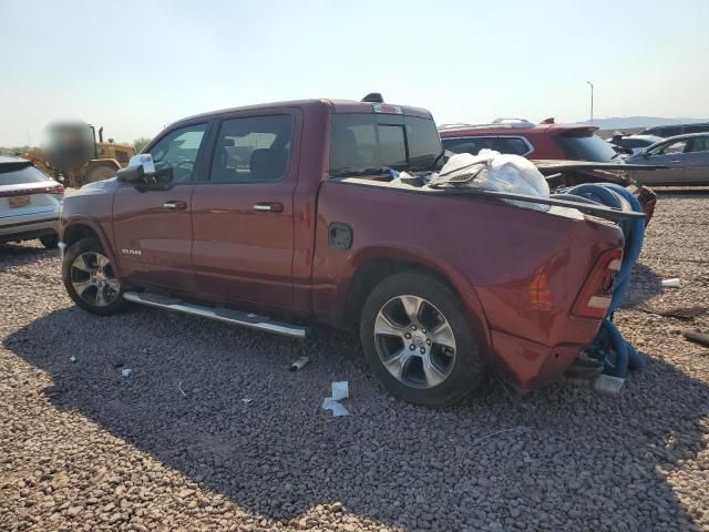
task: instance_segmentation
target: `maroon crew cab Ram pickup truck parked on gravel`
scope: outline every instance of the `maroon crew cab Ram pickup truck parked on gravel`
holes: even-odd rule
[[[390,186],[433,167],[431,114],[308,100],[192,116],[63,203],[62,277],[88,311],[143,304],[291,337],[356,330],[373,374],[442,406],[494,371],[557,380],[595,337],[620,229],[495,197]]]

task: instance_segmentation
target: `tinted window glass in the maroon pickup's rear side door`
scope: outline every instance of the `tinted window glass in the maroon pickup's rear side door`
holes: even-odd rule
[[[290,158],[292,117],[245,116],[222,122],[209,181],[264,183],[284,178]]]

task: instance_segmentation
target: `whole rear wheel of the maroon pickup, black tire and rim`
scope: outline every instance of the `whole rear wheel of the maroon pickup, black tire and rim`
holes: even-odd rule
[[[373,374],[408,402],[452,405],[484,376],[460,298],[422,273],[397,274],[374,287],[362,307],[360,339]]]

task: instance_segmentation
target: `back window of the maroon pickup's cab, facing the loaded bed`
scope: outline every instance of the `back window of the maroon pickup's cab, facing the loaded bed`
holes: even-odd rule
[[[330,176],[379,173],[382,168],[430,170],[441,153],[431,119],[398,114],[333,114]]]

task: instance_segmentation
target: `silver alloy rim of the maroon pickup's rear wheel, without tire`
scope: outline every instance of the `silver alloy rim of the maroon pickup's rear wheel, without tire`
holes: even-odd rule
[[[413,388],[442,383],[455,364],[455,336],[443,314],[418,296],[397,296],[374,320],[374,346],[387,370]]]

